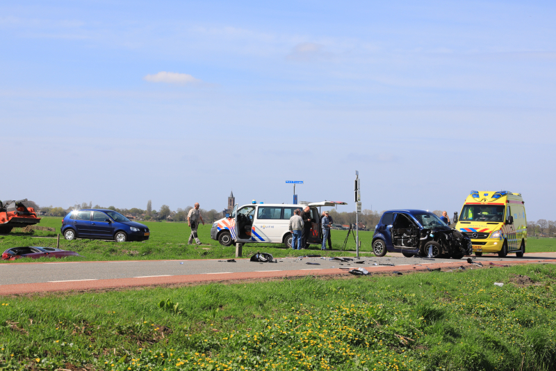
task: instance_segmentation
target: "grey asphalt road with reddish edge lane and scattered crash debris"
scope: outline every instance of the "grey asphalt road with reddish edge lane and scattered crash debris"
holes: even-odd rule
[[[307,274],[347,274],[349,269],[364,267],[370,273],[384,271],[426,270],[427,267],[476,267],[467,258],[405,258],[389,254],[383,258],[355,258],[351,262],[331,258],[280,258],[275,263],[250,262],[249,259],[226,260],[126,260],[115,262],[40,262],[0,264],[0,294],[60,290],[88,290],[98,287],[133,287],[165,283],[226,281]],[[556,253],[532,253],[524,258],[498,258],[484,255],[473,258],[483,265],[515,264],[554,260]],[[361,264],[356,263],[362,262]],[[309,264],[307,264],[309,263]],[[495,266],[496,267],[496,266]]]

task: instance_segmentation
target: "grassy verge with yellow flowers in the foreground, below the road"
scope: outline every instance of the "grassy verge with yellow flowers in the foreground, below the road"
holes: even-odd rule
[[[0,369],[554,370],[555,282],[526,265],[5,297]]]

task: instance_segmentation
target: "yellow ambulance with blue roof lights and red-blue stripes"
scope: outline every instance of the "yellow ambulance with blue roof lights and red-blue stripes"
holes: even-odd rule
[[[525,253],[527,217],[521,194],[508,191],[471,191],[461,208],[459,220],[454,213],[456,229],[468,235],[477,256],[498,253],[505,257]]]

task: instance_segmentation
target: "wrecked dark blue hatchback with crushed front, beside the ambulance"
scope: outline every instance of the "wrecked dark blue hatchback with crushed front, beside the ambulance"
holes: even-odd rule
[[[373,253],[384,256],[386,252],[413,255],[450,255],[461,259],[471,255],[471,239],[450,228],[436,214],[425,210],[389,210],[375,228]]]

